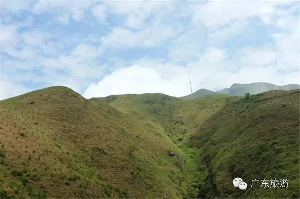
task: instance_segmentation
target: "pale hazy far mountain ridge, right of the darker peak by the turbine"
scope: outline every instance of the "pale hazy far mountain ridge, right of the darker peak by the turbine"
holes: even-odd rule
[[[230,88],[225,88],[216,93],[228,94],[234,96],[244,96],[245,93],[258,94],[271,90],[293,90],[299,89],[300,85],[289,84],[289,85],[274,85],[271,83],[249,83],[249,84],[239,84],[234,83]]]

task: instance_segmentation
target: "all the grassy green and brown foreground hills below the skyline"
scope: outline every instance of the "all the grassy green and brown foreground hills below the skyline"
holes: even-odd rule
[[[87,100],[56,86],[3,100],[0,196],[299,198],[299,97]],[[246,191],[233,187],[235,177]],[[290,187],[250,188],[275,177]]]

